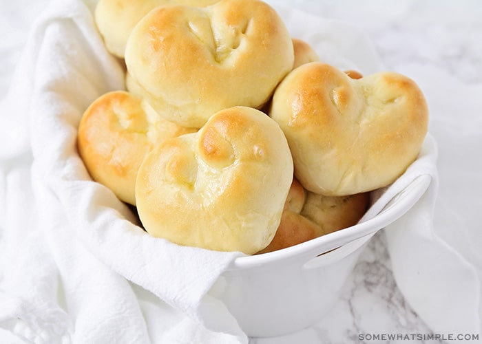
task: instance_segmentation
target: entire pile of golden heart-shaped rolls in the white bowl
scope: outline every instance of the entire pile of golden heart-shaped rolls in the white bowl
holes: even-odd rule
[[[253,255],[353,226],[428,131],[410,78],[318,61],[261,0],[100,0],[95,21],[126,88],[78,152],[154,237]]]

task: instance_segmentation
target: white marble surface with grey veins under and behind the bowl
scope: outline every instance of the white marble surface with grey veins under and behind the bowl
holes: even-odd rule
[[[12,68],[19,50],[26,39],[32,19],[47,1],[1,0],[0,30],[3,43],[0,46],[0,91],[6,92]],[[456,83],[464,87],[482,84],[482,2],[465,1],[268,1],[289,3],[321,17],[340,19],[366,32],[375,44],[387,69],[395,70],[421,80],[437,76],[441,83]],[[15,19],[12,21],[11,19]],[[22,18],[23,21],[18,21]],[[430,73],[429,73],[429,72]],[[430,89],[430,91],[432,91]],[[429,101],[450,94],[427,94]],[[432,97],[432,98],[431,98]],[[447,100],[449,105],[450,100]],[[452,106],[454,106],[452,104]],[[457,107],[454,106],[455,109]],[[480,110],[478,110],[480,113]],[[431,131],[443,136],[437,121],[431,123]],[[482,134],[482,133],[479,133]],[[441,145],[441,166],[444,160],[445,143]],[[450,156],[451,158],[452,156]],[[470,160],[461,160],[468,169]],[[454,175],[441,171],[441,199],[461,197],[450,195],[448,188]],[[465,185],[470,193],[470,187]],[[465,190],[463,189],[463,190]],[[480,187],[479,187],[480,190]],[[453,199],[453,198],[452,198]],[[474,206],[453,208],[448,201],[437,204],[439,215],[435,224],[449,224],[447,228],[463,228],[465,237],[476,223]],[[450,211],[448,211],[450,210]],[[450,226],[452,225],[452,226]],[[461,248],[465,241],[459,235],[444,232],[454,246]],[[480,244],[482,242],[479,241]],[[480,246],[479,246],[480,247]],[[477,252],[467,252],[476,257]],[[473,261],[481,261],[473,259]],[[479,266],[479,268],[481,268]],[[362,253],[353,274],[346,282],[342,298],[335,308],[311,329],[279,338],[251,338],[251,344],[289,343],[397,343],[397,341],[363,341],[360,334],[430,335],[433,332],[417,316],[399,292],[390,268],[390,257],[386,249],[384,234],[377,234]],[[442,343],[441,340],[403,341],[403,343]]]

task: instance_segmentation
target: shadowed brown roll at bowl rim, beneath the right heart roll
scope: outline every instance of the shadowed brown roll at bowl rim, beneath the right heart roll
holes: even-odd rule
[[[293,178],[275,237],[258,253],[281,250],[354,226],[365,214],[369,202],[370,193],[339,197],[318,195],[306,191]]]

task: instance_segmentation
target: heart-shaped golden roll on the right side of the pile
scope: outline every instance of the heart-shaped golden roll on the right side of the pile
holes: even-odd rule
[[[350,78],[312,62],[277,87],[270,116],[289,142],[295,176],[322,195],[353,195],[394,182],[428,131],[426,100],[395,72]]]

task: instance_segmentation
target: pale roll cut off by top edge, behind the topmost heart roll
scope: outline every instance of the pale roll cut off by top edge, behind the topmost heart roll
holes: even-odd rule
[[[100,0],[94,12],[94,19],[107,50],[123,58],[127,37],[149,11],[170,3],[208,6],[217,1],[219,0]]]

